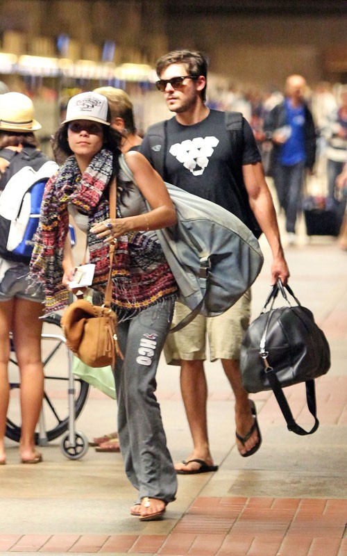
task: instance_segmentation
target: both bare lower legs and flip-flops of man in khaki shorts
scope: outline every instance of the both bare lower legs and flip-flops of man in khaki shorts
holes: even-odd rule
[[[239,372],[238,361],[232,359],[222,359],[224,373],[230,382],[232,391],[235,395],[235,424],[240,436],[245,436],[251,429],[254,419],[251,414],[251,407],[248,403],[248,393],[244,390]],[[208,423],[206,405],[208,399],[208,386],[203,361],[181,361],[180,387],[185,404],[185,411],[189,429],[193,439],[193,451],[187,458],[203,459],[208,466],[213,464],[212,455],[208,442]],[[237,448],[240,454],[245,454],[257,443],[257,432],[253,432],[245,445],[237,441]],[[199,464],[192,462],[188,465],[183,463],[176,464],[177,471],[192,471],[197,469]]]

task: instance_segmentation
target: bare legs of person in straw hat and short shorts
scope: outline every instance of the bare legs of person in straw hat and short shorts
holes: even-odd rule
[[[0,303],[0,460],[5,457],[3,437],[8,410],[8,338],[11,329],[21,377],[22,436],[19,453],[24,460],[33,459],[37,455],[34,434],[43,396],[42,320],[39,319],[41,315],[42,304],[37,302],[15,299]]]

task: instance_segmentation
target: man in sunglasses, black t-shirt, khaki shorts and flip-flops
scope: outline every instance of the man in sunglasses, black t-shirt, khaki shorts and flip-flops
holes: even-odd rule
[[[157,88],[164,92],[167,107],[176,115],[167,122],[164,147],[151,145],[144,137],[141,152],[157,169],[155,151],[164,152],[164,179],[190,193],[209,199],[245,222],[242,191],[271,247],[271,283],[285,284],[289,270],[271,193],[264,179],[261,157],[246,120],[242,120],[241,154],[233,158],[224,113],[205,105],[208,60],[199,52],[174,51],[157,62]],[[149,130],[150,133],[150,130]],[[245,194],[246,192],[246,194]],[[176,304],[176,321],[189,312]],[[221,359],[223,370],[235,394],[237,448],[240,455],[252,455],[260,447],[261,435],[255,404],[248,400],[239,372],[239,348],[251,314],[251,295],[246,294],[226,313],[214,318],[196,317],[183,331],[172,334],[165,347],[168,363],[180,364],[180,384],[194,449],[186,461],[176,464],[180,474],[217,471],[208,443],[206,418],[207,382],[203,361],[208,336],[211,360]]]

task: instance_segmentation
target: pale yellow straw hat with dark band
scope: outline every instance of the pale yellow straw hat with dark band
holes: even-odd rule
[[[41,129],[34,120],[33,101],[22,92],[6,92],[0,95],[0,131],[24,131],[30,133]]]

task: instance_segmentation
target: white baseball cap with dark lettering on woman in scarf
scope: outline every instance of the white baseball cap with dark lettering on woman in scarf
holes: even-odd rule
[[[62,124],[73,120],[91,120],[109,126],[108,99],[98,92],[80,92],[67,103],[66,117]]]

